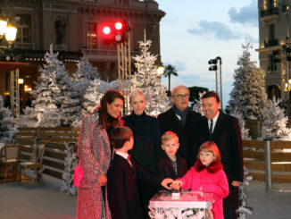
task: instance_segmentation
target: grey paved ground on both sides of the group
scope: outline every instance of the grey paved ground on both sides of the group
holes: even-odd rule
[[[0,183],[0,219],[76,218],[77,197],[58,190],[59,180],[49,176],[45,179],[44,186]],[[254,208],[254,215],[246,218],[291,218],[291,184],[273,184],[273,188],[274,191],[266,192],[264,183],[258,181],[245,187],[247,206]]]

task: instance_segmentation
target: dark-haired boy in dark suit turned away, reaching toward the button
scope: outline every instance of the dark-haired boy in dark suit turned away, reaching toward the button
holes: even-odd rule
[[[145,218],[142,209],[137,181],[148,181],[152,184],[167,184],[171,179],[164,179],[150,173],[129,158],[128,151],[133,147],[133,134],[129,127],[115,128],[111,133],[111,144],[116,149],[112,164],[107,172],[108,203],[112,219]],[[161,182],[162,181],[162,182]]]

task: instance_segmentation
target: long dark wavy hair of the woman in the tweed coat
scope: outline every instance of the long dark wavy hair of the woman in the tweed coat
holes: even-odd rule
[[[116,89],[109,89],[101,98],[100,106],[96,108],[96,110],[99,110],[99,125],[104,129],[109,127],[116,127],[119,125],[120,118],[112,119],[107,111],[107,104],[112,104],[116,98],[120,98],[124,102],[124,96],[120,91]]]

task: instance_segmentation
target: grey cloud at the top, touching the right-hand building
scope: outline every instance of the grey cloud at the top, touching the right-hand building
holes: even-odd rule
[[[251,24],[253,26],[258,26],[258,8],[256,2],[257,1],[252,0],[250,5],[240,8],[238,11],[234,7],[230,8],[230,21],[243,25]]]

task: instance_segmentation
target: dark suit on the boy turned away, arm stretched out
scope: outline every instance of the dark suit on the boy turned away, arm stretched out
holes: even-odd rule
[[[137,186],[138,179],[159,185],[162,181],[154,173],[146,171],[130,157],[129,162],[122,156],[114,155],[107,172],[108,204],[112,219],[145,218]]]

